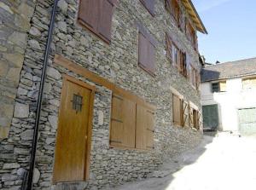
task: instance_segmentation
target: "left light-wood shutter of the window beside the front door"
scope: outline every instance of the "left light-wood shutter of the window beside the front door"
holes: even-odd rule
[[[113,95],[110,144],[135,147],[136,103]]]

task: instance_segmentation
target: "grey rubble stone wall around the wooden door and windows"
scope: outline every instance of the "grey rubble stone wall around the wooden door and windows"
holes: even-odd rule
[[[49,25],[52,0],[35,3],[31,28],[27,36],[20,83],[18,84],[15,116],[9,138],[0,142],[0,180],[3,189],[18,189],[24,170],[27,169],[32,144],[36,99],[43,63],[44,48]],[[51,45],[49,68],[44,88],[44,105],[40,120],[35,189],[97,189],[124,181],[147,177],[166,158],[196,146],[201,141],[201,131],[182,129],[172,124],[172,93],[177,89],[184,97],[201,107],[199,93],[186,78],[177,72],[166,59],[166,32],[172,34],[177,45],[189,55],[189,61],[199,68],[198,55],[185,34],[173,24],[165,10],[164,1],[157,1],[153,18],[139,0],[119,1],[114,9],[112,43],[102,42],[76,21],[79,0],[60,0],[56,16],[55,33]],[[138,32],[141,22],[157,39],[156,77],[152,78],[137,66]],[[4,46],[5,47],[5,46]],[[62,78],[67,73],[86,83],[90,80],[56,66],[55,54],[63,55],[95,72],[116,85],[132,91],[157,107],[154,118],[154,150],[119,150],[109,148],[109,123],[112,92],[96,84],[98,91],[94,104],[90,180],[52,185],[55,136],[60,107]],[[15,59],[16,60],[16,59]],[[14,97],[15,98],[15,97]],[[2,100],[2,98],[1,98]],[[11,118],[11,117],[10,117]]]

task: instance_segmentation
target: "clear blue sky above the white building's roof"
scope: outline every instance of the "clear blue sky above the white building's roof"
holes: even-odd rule
[[[256,57],[256,0],[192,0],[207,27],[199,48],[207,62]]]

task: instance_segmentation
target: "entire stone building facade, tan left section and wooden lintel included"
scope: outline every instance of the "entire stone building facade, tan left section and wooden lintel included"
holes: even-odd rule
[[[176,93],[201,111],[200,93],[189,70],[189,66],[193,66],[197,72],[200,71],[199,55],[182,29],[189,21],[195,29],[200,30],[198,22],[191,17],[191,11],[195,12],[195,9],[188,8],[186,3],[189,1],[178,1],[182,13],[178,27],[166,10],[164,0],[155,1],[154,16],[149,14],[142,2],[116,2],[111,42],[108,44],[78,22],[79,0],[59,1],[44,85],[33,179],[35,189],[101,189],[124,181],[135,181],[147,177],[166,158],[195,147],[201,141],[201,128],[195,130],[191,124],[181,127],[173,123],[172,105],[172,94]],[[28,169],[53,3],[52,0],[3,0],[0,3],[2,189],[19,189]],[[154,76],[138,66],[137,23],[143,25],[156,41]],[[178,49],[185,52],[189,77],[184,77],[179,67],[173,66],[173,60],[167,58],[166,33],[172,37]],[[109,85],[90,78],[91,73],[100,76]],[[55,143],[60,122],[61,90],[67,75],[96,89],[92,109],[90,175],[86,181],[55,183]],[[154,149],[142,151],[110,147],[113,88],[109,86],[112,85],[155,107]]]

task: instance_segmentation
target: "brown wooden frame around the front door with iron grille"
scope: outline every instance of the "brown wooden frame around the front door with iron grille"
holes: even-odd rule
[[[85,167],[84,167],[84,181],[87,181],[90,176],[91,134],[92,134],[93,107],[94,107],[96,86],[93,86],[89,83],[85,83],[85,82],[83,82],[77,78],[71,77],[67,74],[62,74],[61,76],[62,76],[61,105],[59,107],[58,118],[60,118],[61,109],[63,109],[63,106],[64,106],[64,102],[63,102],[64,98],[62,98],[62,95],[64,94],[65,90],[67,89],[67,85],[65,85],[65,83],[67,83],[67,81],[76,83],[77,85],[82,86],[86,89],[90,89],[90,105],[89,105],[87,140],[86,140],[86,151],[85,151]],[[59,124],[58,124],[58,128],[59,128]],[[56,137],[55,137],[56,140],[57,140],[57,136],[58,136],[58,130],[57,130]],[[53,177],[53,183],[55,184],[57,182],[58,181],[55,181],[55,178]],[[72,181],[68,181],[68,182],[72,182]]]

